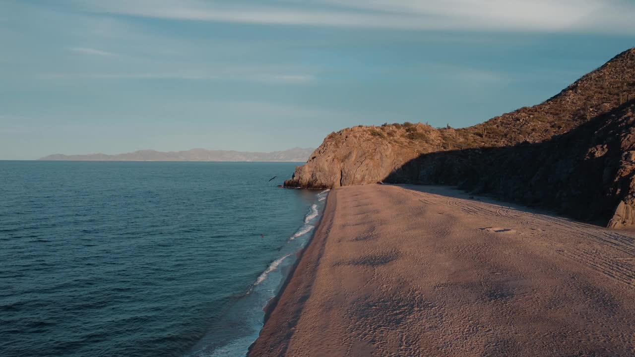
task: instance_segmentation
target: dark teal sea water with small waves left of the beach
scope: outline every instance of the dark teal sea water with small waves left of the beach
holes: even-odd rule
[[[0,356],[244,356],[325,202],[296,165],[0,161]]]

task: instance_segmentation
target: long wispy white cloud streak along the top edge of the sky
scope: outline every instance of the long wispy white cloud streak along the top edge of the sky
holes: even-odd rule
[[[635,4],[618,0],[305,0],[274,4],[112,0],[83,2],[82,6],[96,13],[247,24],[635,33]]]

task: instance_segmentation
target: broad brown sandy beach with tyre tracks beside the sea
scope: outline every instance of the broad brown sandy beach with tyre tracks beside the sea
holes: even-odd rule
[[[446,187],[335,189],[250,356],[635,356],[635,232]]]

